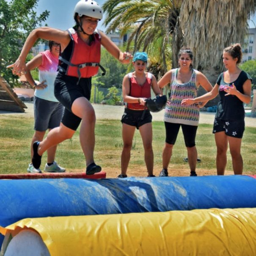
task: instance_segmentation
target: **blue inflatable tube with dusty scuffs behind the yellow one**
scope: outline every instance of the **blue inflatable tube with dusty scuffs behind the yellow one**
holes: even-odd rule
[[[0,180],[0,226],[27,217],[253,208],[255,195],[250,176]]]

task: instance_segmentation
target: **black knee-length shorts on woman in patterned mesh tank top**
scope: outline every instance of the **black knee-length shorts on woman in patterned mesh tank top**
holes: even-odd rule
[[[197,126],[187,125],[187,124],[175,124],[165,122],[165,142],[174,145],[179,133],[179,127],[182,127],[182,132],[184,136],[185,145],[187,148],[192,148],[195,146],[195,135]]]

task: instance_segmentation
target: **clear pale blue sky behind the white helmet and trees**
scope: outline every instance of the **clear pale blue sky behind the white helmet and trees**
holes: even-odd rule
[[[100,6],[102,6],[105,1],[106,0],[96,0]],[[66,30],[74,25],[73,12],[77,2],[78,0],[39,0],[36,11],[38,14],[45,10],[50,11],[50,15],[46,21],[47,25],[52,28]],[[253,20],[256,24],[256,15],[254,15]],[[103,21],[101,20],[98,23],[98,28],[105,31],[105,27],[102,24]],[[249,22],[249,26],[250,28],[255,28],[253,22]]]

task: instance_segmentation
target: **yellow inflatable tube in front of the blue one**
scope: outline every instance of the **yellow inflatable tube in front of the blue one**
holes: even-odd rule
[[[256,208],[28,218],[0,232],[23,228],[51,256],[256,255]]]

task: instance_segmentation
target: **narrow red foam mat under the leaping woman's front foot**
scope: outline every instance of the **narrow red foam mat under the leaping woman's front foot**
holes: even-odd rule
[[[18,174],[0,174],[0,179],[104,179],[106,178],[105,171],[86,175],[85,173],[18,173]]]

